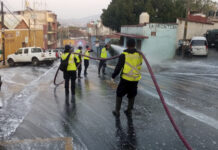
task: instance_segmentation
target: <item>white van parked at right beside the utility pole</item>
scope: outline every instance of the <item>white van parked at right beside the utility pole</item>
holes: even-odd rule
[[[207,56],[208,43],[205,37],[193,37],[190,42],[190,49],[192,55]]]

